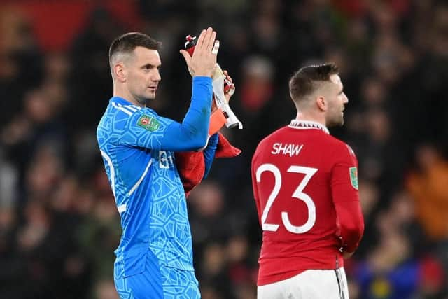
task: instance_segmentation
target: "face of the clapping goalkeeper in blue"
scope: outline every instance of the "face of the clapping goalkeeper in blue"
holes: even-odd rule
[[[126,63],[127,89],[134,99],[145,105],[155,98],[160,82],[160,56],[157,50],[137,47]]]

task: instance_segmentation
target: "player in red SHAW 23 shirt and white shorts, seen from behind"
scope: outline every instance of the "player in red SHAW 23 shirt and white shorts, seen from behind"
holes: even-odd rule
[[[297,118],[263,139],[252,159],[262,247],[258,298],[349,298],[344,257],[364,231],[358,161],[327,127],[344,124],[348,99],[334,64],[290,79]]]

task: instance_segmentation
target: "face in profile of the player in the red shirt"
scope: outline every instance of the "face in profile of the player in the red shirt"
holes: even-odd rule
[[[328,109],[325,114],[325,125],[335,127],[344,125],[344,109],[349,99],[344,94],[344,85],[337,74],[330,76],[330,83],[327,85],[326,99]]]

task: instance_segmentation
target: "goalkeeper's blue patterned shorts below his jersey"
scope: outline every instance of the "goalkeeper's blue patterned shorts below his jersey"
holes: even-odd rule
[[[158,260],[146,256],[142,273],[123,277],[114,267],[115,287],[121,299],[200,299],[195,272],[159,265]]]

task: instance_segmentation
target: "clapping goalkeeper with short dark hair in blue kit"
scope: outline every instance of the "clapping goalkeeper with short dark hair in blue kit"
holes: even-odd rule
[[[118,37],[109,50],[113,97],[97,139],[123,228],[114,280],[120,298],[200,298],[174,151],[207,146],[209,169],[218,142],[214,134],[207,145],[219,43],[208,28],[202,30],[193,56],[181,50],[195,74],[182,123],[146,107],[161,79],[159,47],[146,34],[133,32]]]

